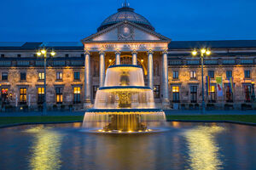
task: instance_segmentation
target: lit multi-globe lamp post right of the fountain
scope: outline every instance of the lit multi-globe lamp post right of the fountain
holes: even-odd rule
[[[209,48],[201,48],[201,49],[194,49],[192,51],[192,55],[195,56],[198,54],[198,51],[201,54],[201,113],[204,114],[206,111],[206,104],[205,104],[205,88],[204,88],[204,57],[206,55],[210,55],[211,51]]]

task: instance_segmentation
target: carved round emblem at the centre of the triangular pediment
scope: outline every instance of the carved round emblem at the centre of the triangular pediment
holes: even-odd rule
[[[119,40],[134,40],[134,28],[129,25],[119,26],[118,39]]]

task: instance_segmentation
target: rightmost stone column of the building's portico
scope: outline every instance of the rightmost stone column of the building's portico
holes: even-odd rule
[[[163,94],[163,99],[162,99],[162,105],[169,106],[169,92],[168,92],[168,57],[167,57],[167,50],[163,52],[162,55],[162,94]]]

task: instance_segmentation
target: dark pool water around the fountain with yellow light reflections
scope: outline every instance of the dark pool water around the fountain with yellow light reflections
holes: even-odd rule
[[[0,169],[253,169],[256,127],[167,122],[146,134],[83,133],[81,123],[0,129]]]

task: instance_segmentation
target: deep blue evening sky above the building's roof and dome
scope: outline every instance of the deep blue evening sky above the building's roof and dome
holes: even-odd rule
[[[1,0],[1,42],[78,42],[123,0]],[[255,0],[129,0],[172,40],[256,39]]]

